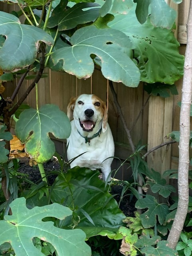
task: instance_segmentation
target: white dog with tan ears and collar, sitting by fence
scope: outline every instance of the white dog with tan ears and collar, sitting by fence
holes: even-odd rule
[[[67,158],[73,159],[70,168],[100,169],[103,180],[109,181],[115,146],[105,102],[94,94],[81,94],[71,98],[67,116],[72,120],[67,138]]]

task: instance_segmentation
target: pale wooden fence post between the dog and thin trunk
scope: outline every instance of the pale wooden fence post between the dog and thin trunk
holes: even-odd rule
[[[178,12],[178,4],[171,0],[166,1],[172,8]],[[177,38],[177,20],[175,36]],[[173,96],[161,98],[151,96],[149,100],[148,112],[148,150],[168,141],[166,135],[172,131],[172,109]],[[163,174],[165,170],[170,169],[171,146],[166,145],[152,152],[147,157],[148,167]]]

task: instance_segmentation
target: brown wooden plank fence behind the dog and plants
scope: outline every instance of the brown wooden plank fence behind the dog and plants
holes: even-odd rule
[[[178,11],[177,29],[175,36],[180,42],[180,53],[184,54],[186,48],[186,20],[188,16],[189,0],[186,0],[180,5],[173,4],[172,1],[167,1],[173,8]],[[3,9],[2,9],[3,8]],[[5,10],[4,5],[0,4],[0,9]],[[157,64],[158,65],[158,64]],[[107,101],[107,91],[109,89],[107,80],[102,76],[99,69],[95,69],[91,78],[87,80],[79,80],[75,76],[67,73],[53,72],[45,70],[46,78],[42,78],[38,86],[38,101],[42,104],[57,104],[61,110],[66,112],[67,104],[71,96],[76,96],[82,93],[97,94],[100,98]],[[10,82],[6,86],[4,94],[11,95],[16,84]],[[30,84],[30,80],[25,80],[18,94],[18,98]],[[143,90],[143,83],[140,83],[138,88],[129,88],[121,83],[113,83],[119,104],[122,108],[123,115],[129,129],[133,126],[143,104],[148,98],[148,94]],[[170,98],[160,98],[159,96],[151,96],[148,104],[145,106],[139,120],[131,130],[133,142],[137,145],[148,145],[148,150],[166,142],[166,135],[172,130],[179,130],[179,112],[180,108],[177,103],[181,100],[182,80],[176,82],[179,95],[171,96]],[[36,107],[35,89],[32,90],[26,103],[31,107]],[[109,124],[115,140],[115,156],[126,159],[131,154],[128,138],[123,129],[121,120],[117,114],[117,109],[113,103],[113,96],[109,89],[108,98],[109,107]],[[57,142],[57,149],[63,151],[63,142]],[[164,172],[170,168],[176,169],[178,166],[178,144],[172,146],[164,146],[151,154],[147,158],[148,165],[154,170]],[[114,162],[114,168],[119,165],[118,161]],[[127,179],[130,174],[127,172],[127,167],[123,167],[118,178]]]

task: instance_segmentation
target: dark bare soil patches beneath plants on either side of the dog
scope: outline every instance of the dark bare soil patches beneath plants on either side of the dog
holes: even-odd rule
[[[18,169],[18,172],[27,174],[27,177],[29,180],[38,184],[42,180],[39,168],[38,166],[30,166],[28,162],[29,162],[28,158],[21,159],[20,168]],[[48,183],[49,185],[51,185],[53,184],[55,178],[57,177],[57,175],[53,174],[53,172],[55,170],[60,170],[60,165],[55,159],[49,160],[48,162],[44,163],[44,170],[48,175]],[[121,198],[120,195],[121,195],[122,189],[123,189],[123,186],[120,186],[120,185],[111,186],[111,194],[113,195],[116,194],[114,198],[117,201],[117,203],[119,203],[119,200]],[[124,195],[123,200],[121,200],[120,202],[119,208],[122,210],[125,216],[131,216],[131,217],[135,216],[134,212],[137,210],[135,208],[135,202],[136,202],[136,199],[132,198],[131,200],[129,194]]]

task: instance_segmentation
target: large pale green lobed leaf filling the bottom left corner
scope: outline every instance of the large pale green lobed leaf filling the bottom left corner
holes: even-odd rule
[[[53,222],[42,221],[46,217],[60,220],[71,214],[71,210],[59,204],[26,208],[25,198],[14,200],[10,207],[12,215],[0,220],[0,244],[10,242],[16,256],[44,256],[33,244],[38,237],[50,242],[58,256],[90,256],[91,249],[85,244],[85,233],[82,230],[64,230],[53,226]]]

